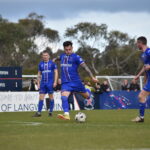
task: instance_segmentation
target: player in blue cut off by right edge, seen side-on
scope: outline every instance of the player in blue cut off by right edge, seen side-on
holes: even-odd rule
[[[142,51],[141,59],[144,63],[143,68],[138,73],[138,75],[134,78],[134,80],[138,80],[140,75],[145,72],[146,75],[146,83],[143,90],[139,94],[139,116],[133,119],[134,122],[144,122],[144,112],[146,105],[146,98],[150,95],[150,48],[147,46],[147,39],[143,36],[137,39],[137,47]]]

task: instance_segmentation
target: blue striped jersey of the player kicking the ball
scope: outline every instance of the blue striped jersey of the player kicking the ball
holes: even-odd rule
[[[71,55],[62,54],[60,56],[62,83],[79,81],[78,68],[82,63],[84,63],[83,59],[75,53]]]

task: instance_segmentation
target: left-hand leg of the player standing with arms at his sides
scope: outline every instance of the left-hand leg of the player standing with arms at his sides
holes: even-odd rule
[[[33,117],[41,117],[41,112],[43,108],[45,94],[39,95],[38,111],[33,115]]]

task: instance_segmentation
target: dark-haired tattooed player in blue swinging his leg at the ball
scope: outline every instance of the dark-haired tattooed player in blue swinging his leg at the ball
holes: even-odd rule
[[[70,120],[68,106],[68,97],[70,93],[79,92],[84,98],[90,99],[90,95],[86,91],[78,74],[79,66],[87,71],[92,81],[97,82],[97,79],[93,76],[83,59],[79,55],[73,53],[73,44],[71,41],[64,42],[63,47],[65,53],[54,59],[54,61],[59,60],[61,65],[61,99],[62,108],[64,110],[64,114],[58,114],[57,117],[62,120]]]

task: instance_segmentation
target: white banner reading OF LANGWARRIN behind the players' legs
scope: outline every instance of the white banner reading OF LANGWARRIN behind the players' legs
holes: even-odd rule
[[[38,101],[38,92],[0,92],[0,112],[37,111]],[[54,93],[54,101],[54,111],[62,110],[60,92]],[[44,101],[43,111],[45,110]]]

